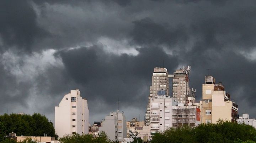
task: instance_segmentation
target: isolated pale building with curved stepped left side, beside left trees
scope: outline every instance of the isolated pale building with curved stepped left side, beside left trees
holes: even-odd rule
[[[89,109],[87,100],[82,99],[78,88],[71,90],[55,106],[55,132],[59,137],[65,134],[89,132]]]

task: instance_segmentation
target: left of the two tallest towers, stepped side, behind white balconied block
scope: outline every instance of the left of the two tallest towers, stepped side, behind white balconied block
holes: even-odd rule
[[[145,125],[150,125],[150,101],[158,94],[169,96],[169,78],[166,68],[155,67],[152,75],[152,85],[148,98]]]

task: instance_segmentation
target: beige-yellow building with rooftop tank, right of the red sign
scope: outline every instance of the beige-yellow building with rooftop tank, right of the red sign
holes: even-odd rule
[[[202,123],[216,123],[219,119],[236,122],[238,105],[230,100],[230,95],[221,82],[208,75],[202,86]]]

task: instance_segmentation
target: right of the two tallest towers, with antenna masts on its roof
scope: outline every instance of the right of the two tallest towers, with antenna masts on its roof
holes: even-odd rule
[[[189,74],[190,66],[183,66],[181,69],[177,69],[172,77],[172,97],[176,99],[178,103],[183,105],[189,105],[189,103],[195,103],[195,93],[196,90],[191,90],[189,87]],[[191,97],[188,99],[188,97]]]

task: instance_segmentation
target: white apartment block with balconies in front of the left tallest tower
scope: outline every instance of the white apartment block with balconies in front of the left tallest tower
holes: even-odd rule
[[[150,99],[150,138],[172,126],[172,98],[165,95]]]

